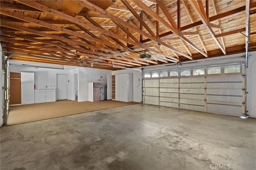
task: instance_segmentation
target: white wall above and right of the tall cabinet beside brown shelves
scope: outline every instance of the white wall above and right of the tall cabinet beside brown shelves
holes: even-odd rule
[[[125,74],[132,73],[132,93],[133,93],[133,102],[141,102],[142,101],[142,74],[138,70],[124,69],[124,70],[116,70],[112,71],[112,75],[116,74]]]

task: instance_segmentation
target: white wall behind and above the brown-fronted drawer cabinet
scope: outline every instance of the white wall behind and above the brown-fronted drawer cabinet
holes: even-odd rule
[[[107,84],[107,75],[111,73],[112,73],[111,70],[79,67],[78,102],[88,101],[88,83],[89,82],[99,82],[98,80],[102,76],[101,83]]]

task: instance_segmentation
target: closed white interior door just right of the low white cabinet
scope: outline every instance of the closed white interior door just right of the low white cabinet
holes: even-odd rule
[[[57,100],[68,99],[67,74],[57,74]]]

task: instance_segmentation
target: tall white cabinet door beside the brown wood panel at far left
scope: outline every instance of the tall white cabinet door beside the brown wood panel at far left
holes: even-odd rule
[[[21,72],[21,104],[34,103],[34,72]]]

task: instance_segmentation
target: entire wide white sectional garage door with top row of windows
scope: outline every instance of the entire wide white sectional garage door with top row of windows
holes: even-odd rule
[[[201,74],[194,74],[194,68],[189,68],[191,74],[182,75],[182,70],[177,70],[178,75],[172,76],[168,70],[168,76],[151,78],[150,72],[143,82],[143,102],[156,106],[175,107],[210,113],[241,116],[245,112],[244,86],[245,79],[242,76],[242,64],[218,66],[216,72],[209,72],[209,68],[203,67]],[[214,68],[214,69],[216,69]],[[219,72],[218,72],[219,71]],[[156,71],[154,71],[156,72]]]

